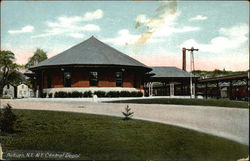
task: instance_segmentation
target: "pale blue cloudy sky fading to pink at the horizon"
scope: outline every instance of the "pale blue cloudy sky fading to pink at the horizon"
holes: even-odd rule
[[[93,35],[148,66],[182,68],[194,47],[196,70],[248,70],[248,18],[247,1],[3,1],[1,50],[26,64]]]

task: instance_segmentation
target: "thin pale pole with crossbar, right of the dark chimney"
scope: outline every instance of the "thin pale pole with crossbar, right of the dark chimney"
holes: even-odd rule
[[[194,71],[194,51],[199,51],[199,49],[195,49],[194,47],[191,47],[191,49],[186,49],[187,51],[190,51],[190,97],[192,98],[193,95],[195,96],[195,84],[193,86],[193,76],[192,71]]]

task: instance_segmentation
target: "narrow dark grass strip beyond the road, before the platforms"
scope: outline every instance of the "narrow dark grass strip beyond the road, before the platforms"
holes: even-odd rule
[[[152,98],[152,99],[135,99],[112,101],[116,103],[142,103],[142,104],[177,104],[177,105],[202,105],[202,106],[221,106],[249,108],[247,102],[215,100],[215,99],[171,99],[171,98]]]

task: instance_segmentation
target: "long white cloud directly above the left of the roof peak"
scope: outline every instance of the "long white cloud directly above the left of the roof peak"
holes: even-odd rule
[[[61,16],[57,17],[56,21],[47,21],[47,29],[32,38],[47,37],[54,35],[64,35],[73,38],[83,38],[85,32],[99,32],[101,29],[95,24],[84,24],[85,21],[100,19],[103,16],[102,10],[98,9],[93,12],[87,12],[83,17],[81,16]]]

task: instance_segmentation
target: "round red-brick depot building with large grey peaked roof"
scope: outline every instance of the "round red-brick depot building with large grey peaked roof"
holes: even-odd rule
[[[40,96],[57,91],[141,91],[152,69],[95,37],[30,68]]]

